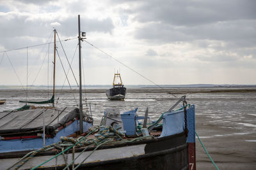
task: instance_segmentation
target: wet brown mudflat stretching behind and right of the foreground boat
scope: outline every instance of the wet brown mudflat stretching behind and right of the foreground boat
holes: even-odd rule
[[[159,117],[186,94],[188,103],[196,107],[196,132],[220,169],[256,169],[256,88],[169,88],[169,89],[127,89],[125,101],[108,101],[106,89],[86,89],[86,101],[92,103],[95,123],[100,121],[103,110],[118,107],[120,111],[138,107],[143,114],[149,107],[152,119]],[[59,106],[76,105],[78,94],[57,89]],[[47,90],[29,90],[32,99],[47,99]],[[174,97],[177,96],[177,97]],[[49,94],[51,96],[51,94]],[[18,108],[20,99],[26,99],[26,92],[18,89],[0,89],[0,111]],[[31,97],[29,97],[31,98]],[[198,139],[196,139],[197,169],[215,169]]]

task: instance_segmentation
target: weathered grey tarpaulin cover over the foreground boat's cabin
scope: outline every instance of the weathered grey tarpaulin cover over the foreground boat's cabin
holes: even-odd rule
[[[0,136],[42,130],[52,134],[61,125],[79,118],[79,110],[67,107],[62,110],[40,109],[0,113]]]

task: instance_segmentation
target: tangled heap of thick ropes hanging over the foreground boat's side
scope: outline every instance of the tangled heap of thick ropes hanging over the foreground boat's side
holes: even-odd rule
[[[116,130],[115,128],[113,128],[112,126],[107,126],[107,127],[91,127],[89,129],[89,133],[84,136],[84,137],[79,137],[77,139],[74,139],[74,138],[67,138],[67,137],[61,137],[61,141],[59,141],[58,143],[53,143],[51,145],[47,145],[45,146],[44,148],[40,148],[39,150],[35,150],[33,152],[29,152],[28,154],[26,154],[24,157],[22,157],[18,162],[16,162],[15,164],[13,164],[13,166],[9,167],[8,169],[12,169],[12,167],[15,167],[15,169],[19,169],[20,167],[22,167],[26,162],[28,162],[29,159],[35,157],[35,155],[37,153],[40,153],[40,152],[45,152],[45,151],[48,151],[48,150],[52,150],[54,148],[58,149],[58,150],[61,150],[60,153],[58,153],[57,155],[54,155],[54,157],[52,157],[51,159],[49,160],[46,160],[45,162],[43,162],[42,164],[36,166],[36,167],[33,167],[33,169],[36,169],[37,167],[40,167],[42,165],[44,165],[45,163],[49,162],[50,160],[58,157],[59,155],[63,155],[67,150],[69,150],[70,148],[72,147],[76,147],[76,148],[80,148],[80,147],[83,147],[83,146],[86,146],[84,148],[84,150],[79,153],[79,155],[77,155],[77,157],[72,160],[72,162],[70,162],[69,164],[67,164],[66,162],[66,167],[65,169],[67,169],[71,164],[73,164],[73,162],[87,149],[89,148],[90,146],[96,146],[95,149],[92,151],[95,152],[95,150],[97,150],[97,148],[99,148],[99,146],[101,145],[104,145],[106,143],[115,143],[115,144],[118,144],[118,143],[130,143],[130,142],[133,142],[133,141],[140,141],[140,140],[143,140],[143,139],[148,139],[148,138],[154,138],[153,136],[147,136],[147,137],[140,137],[140,138],[135,138],[135,139],[132,139],[132,140],[127,140],[127,139],[122,139],[122,136],[124,136],[124,134],[118,130]],[[95,138],[94,139],[86,139],[90,134],[92,134],[93,132],[97,132],[97,134],[95,134]],[[116,141],[114,141],[114,139],[116,139]],[[65,150],[64,148],[67,147]],[[90,155],[92,155],[92,153],[90,153],[88,155],[88,157],[90,157]],[[88,159],[88,157],[86,157],[80,164],[78,164],[76,166],[75,169],[77,169],[81,164],[83,164],[83,162]],[[32,170],[33,170],[32,169]]]

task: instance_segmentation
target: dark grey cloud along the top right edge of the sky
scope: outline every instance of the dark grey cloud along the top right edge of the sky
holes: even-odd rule
[[[141,1],[140,1],[141,2]],[[142,1],[132,6],[139,22],[161,22],[172,25],[200,25],[225,20],[255,19],[256,2],[250,1]],[[140,12],[138,12],[140,11]]]

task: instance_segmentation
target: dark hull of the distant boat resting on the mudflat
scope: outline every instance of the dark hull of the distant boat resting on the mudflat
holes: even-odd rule
[[[125,98],[126,88],[125,87],[113,87],[106,90],[106,96],[110,100],[123,100]]]

